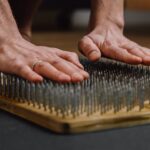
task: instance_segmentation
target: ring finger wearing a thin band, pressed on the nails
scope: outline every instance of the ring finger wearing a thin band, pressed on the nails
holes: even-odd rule
[[[42,63],[37,64],[34,67],[34,70],[38,74],[44,77],[47,77],[49,79],[58,81],[58,82],[70,82],[71,81],[71,78],[67,74],[57,70],[55,67],[53,67],[51,64],[47,62],[42,62]]]

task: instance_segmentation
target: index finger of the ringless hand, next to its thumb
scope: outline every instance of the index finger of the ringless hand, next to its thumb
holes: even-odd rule
[[[109,48],[102,50],[104,56],[119,60],[129,64],[140,64],[142,59],[130,54],[126,49],[111,45]]]

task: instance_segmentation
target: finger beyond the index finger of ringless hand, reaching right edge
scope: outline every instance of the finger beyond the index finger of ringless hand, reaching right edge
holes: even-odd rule
[[[149,65],[150,64],[150,56],[146,54],[146,52],[144,52],[143,49],[140,48],[140,46],[134,46],[131,47],[129,45],[125,46],[127,51],[135,56],[141,57],[142,58],[142,63],[145,65]]]

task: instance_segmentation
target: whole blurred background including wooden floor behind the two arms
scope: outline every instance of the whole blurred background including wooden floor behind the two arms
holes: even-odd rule
[[[90,0],[43,0],[34,18],[33,41],[66,50],[77,49],[89,15]],[[150,0],[126,0],[125,20],[125,35],[150,47]]]

